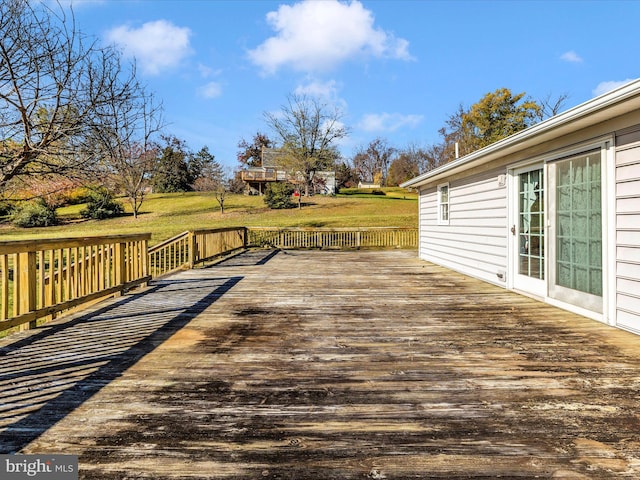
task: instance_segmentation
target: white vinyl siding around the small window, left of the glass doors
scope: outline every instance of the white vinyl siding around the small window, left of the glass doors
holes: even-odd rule
[[[439,224],[438,187],[420,192],[420,257],[504,285],[507,190],[504,169],[449,182],[449,224]]]

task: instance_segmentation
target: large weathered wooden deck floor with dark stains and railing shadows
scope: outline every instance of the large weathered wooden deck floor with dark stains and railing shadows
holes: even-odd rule
[[[640,337],[410,251],[254,251],[0,343],[84,479],[639,478]]]

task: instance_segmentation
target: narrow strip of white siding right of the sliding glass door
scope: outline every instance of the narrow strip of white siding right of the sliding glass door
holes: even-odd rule
[[[640,131],[616,145],[616,323],[640,333]]]

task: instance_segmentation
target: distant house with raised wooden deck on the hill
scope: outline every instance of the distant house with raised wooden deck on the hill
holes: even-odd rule
[[[245,183],[248,194],[263,195],[270,182],[290,181],[287,172],[278,165],[280,155],[281,152],[277,148],[263,148],[262,165],[242,170],[240,178]],[[336,192],[335,171],[316,172],[315,178],[317,182],[313,193],[332,195]]]

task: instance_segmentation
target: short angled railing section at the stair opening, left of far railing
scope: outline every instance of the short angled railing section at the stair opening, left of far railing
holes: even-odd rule
[[[183,232],[149,249],[149,271],[160,277],[246,247],[245,227]]]

